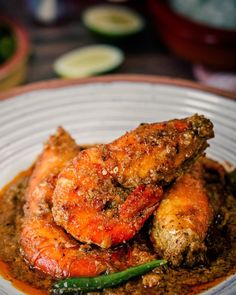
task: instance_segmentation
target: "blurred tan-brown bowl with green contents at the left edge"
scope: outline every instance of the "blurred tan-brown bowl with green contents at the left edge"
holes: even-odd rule
[[[0,24],[10,28],[15,38],[13,55],[0,65],[0,91],[21,84],[26,78],[29,38],[26,29],[14,19],[0,15]]]

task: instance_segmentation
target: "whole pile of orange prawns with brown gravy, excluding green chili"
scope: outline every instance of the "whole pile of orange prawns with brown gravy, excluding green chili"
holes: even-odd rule
[[[61,279],[168,261],[90,292],[125,295],[197,294],[234,274],[235,190],[204,155],[213,136],[199,115],[88,147],[59,128],[1,192],[0,258],[11,277],[49,294]]]

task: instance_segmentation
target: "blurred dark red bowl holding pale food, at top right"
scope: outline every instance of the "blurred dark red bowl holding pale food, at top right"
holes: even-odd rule
[[[236,30],[213,28],[175,13],[166,0],[148,0],[153,24],[176,55],[218,69],[236,69]]]

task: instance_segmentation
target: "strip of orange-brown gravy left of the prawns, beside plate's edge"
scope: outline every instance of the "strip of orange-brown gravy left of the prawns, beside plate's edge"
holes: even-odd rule
[[[21,256],[18,237],[23,216],[23,195],[32,169],[19,173],[0,192],[0,275],[26,294],[45,295],[50,283],[30,270]],[[35,282],[41,282],[35,284]],[[39,287],[39,288],[38,288]]]

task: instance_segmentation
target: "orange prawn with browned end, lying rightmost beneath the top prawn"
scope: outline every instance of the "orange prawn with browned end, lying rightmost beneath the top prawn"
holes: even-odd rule
[[[224,174],[220,164],[202,157],[165,193],[154,213],[151,240],[173,266],[207,262],[213,220],[224,202]],[[215,177],[217,183],[210,183]]]

